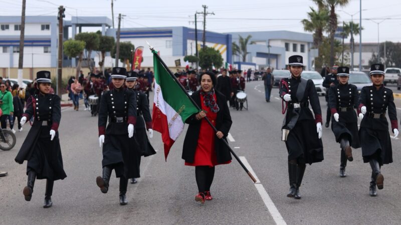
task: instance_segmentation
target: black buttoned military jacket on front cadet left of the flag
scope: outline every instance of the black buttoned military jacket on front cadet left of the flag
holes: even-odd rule
[[[99,136],[128,134],[128,124],[135,125],[136,116],[136,97],[132,90],[121,87],[105,91],[99,108]],[[123,117],[124,122],[115,122],[117,117]]]

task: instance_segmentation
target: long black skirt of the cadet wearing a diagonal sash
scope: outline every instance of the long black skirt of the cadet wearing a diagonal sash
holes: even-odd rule
[[[288,160],[297,159],[301,163],[323,161],[323,143],[316,132],[314,120],[297,121],[294,128],[288,133],[285,142],[288,151]]]

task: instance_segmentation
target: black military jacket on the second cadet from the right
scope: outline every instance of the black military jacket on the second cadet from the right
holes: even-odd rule
[[[339,121],[357,122],[358,118],[356,117],[355,110],[351,110],[351,108],[357,108],[359,114],[358,100],[358,88],[353,84],[338,83],[329,90],[329,107],[332,114],[339,114]]]

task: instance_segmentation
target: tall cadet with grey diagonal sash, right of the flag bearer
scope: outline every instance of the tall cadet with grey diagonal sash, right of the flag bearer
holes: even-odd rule
[[[299,187],[306,163],[323,160],[322,114],[319,97],[311,79],[301,77],[303,60],[300,55],[289,57],[291,77],[280,82],[280,97],[288,105],[282,131],[288,150],[288,175],[290,192],[288,197],[300,199]],[[315,117],[309,109],[312,106]]]

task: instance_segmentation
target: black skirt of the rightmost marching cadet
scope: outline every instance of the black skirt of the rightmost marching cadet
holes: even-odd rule
[[[388,130],[360,127],[359,138],[363,162],[376,159],[380,165],[392,162],[391,138]]]

